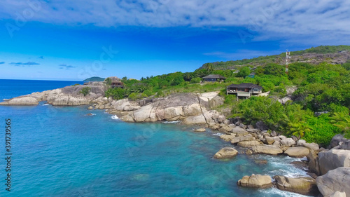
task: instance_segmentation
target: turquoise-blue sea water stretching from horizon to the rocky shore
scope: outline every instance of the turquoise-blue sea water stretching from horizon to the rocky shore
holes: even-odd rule
[[[0,80],[0,100],[70,86],[77,81]],[[86,116],[92,112],[94,116]],[[82,107],[0,106],[1,158],[10,118],[10,192],[0,161],[0,196],[299,196],[236,185],[244,175],[305,175],[296,158],[246,156],[218,161],[216,132],[175,123],[123,123]],[[239,149],[239,147],[235,147]],[[266,165],[255,160],[266,159]]]

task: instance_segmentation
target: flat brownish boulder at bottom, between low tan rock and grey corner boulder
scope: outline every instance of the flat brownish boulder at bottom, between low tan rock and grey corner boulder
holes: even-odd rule
[[[294,193],[300,193],[308,196],[316,196],[318,194],[318,188],[316,185],[316,179],[311,177],[283,177],[274,176],[276,180],[276,186],[283,191],[291,191]]]

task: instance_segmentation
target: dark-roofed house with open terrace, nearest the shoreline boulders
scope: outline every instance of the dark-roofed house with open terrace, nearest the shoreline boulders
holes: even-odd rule
[[[262,87],[254,83],[231,84],[226,89],[226,95],[237,95],[238,97],[251,97],[262,93]]]

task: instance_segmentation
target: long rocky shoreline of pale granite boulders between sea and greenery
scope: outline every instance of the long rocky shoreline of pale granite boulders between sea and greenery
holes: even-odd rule
[[[90,93],[83,95],[80,91],[90,88]],[[255,126],[244,125],[239,118],[227,119],[212,108],[223,104],[218,93],[179,93],[167,97],[150,97],[139,101],[128,99],[112,100],[104,97],[107,86],[102,82],[88,85],[66,86],[41,93],[31,93],[1,102],[0,105],[36,105],[46,101],[53,106],[90,105],[88,109],[106,109],[109,114],[116,114],[122,121],[141,123],[159,121],[181,121],[186,125],[200,125],[196,132],[205,128],[219,130],[225,142],[243,147],[244,154],[284,154],[290,157],[307,157],[310,177],[283,177],[275,175],[244,176],[237,181],[239,186],[277,189],[291,191],[309,196],[350,196],[350,141],[342,135],[333,137],[328,149],[318,144],[307,143],[296,137],[278,135],[261,122]],[[224,147],[214,158],[232,158],[238,153],[232,147]],[[274,180],[272,182],[272,180]]]

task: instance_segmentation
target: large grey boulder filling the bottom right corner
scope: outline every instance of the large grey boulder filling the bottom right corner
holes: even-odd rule
[[[316,184],[323,196],[330,196],[335,191],[345,192],[346,196],[350,196],[350,168],[330,170],[325,175],[317,177]]]

